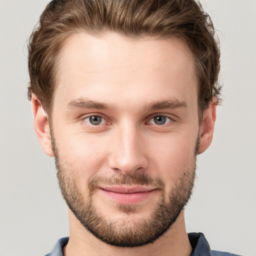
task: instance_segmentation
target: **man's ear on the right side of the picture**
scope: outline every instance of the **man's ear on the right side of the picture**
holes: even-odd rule
[[[213,97],[212,101],[208,105],[208,108],[203,111],[202,124],[199,129],[199,148],[197,154],[204,152],[211,143],[216,119],[217,105],[218,99]]]

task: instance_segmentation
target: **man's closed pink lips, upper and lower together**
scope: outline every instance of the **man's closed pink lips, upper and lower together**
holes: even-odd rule
[[[148,186],[100,186],[101,192],[120,204],[135,204],[144,201],[156,191]]]

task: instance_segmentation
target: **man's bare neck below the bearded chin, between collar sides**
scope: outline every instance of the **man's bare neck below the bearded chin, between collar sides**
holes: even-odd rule
[[[191,245],[185,230],[182,211],[171,228],[153,243],[137,247],[116,247],[106,244],[88,232],[69,210],[69,241],[64,247],[64,256],[188,256]]]

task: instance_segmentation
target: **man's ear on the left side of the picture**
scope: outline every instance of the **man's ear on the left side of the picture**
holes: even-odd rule
[[[43,152],[49,156],[54,156],[51,148],[48,118],[42,108],[40,100],[33,93],[31,96],[31,104],[34,117],[35,135],[40,143]]]

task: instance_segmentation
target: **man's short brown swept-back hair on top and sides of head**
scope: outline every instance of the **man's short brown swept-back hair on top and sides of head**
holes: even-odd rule
[[[194,0],[52,0],[40,16],[28,44],[30,84],[50,114],[58,53],[73,33],[107,31],[141,38],[144,35],[182,38],[194,56],[199,81],[198,111],[219,95],[219,48],[210,17]],[[200,116],[200,115],[199,115]]]

